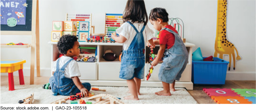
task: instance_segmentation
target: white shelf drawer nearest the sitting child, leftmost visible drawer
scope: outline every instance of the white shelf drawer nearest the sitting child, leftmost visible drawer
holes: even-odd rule
[[[98,64],[78,62],[79,70],[81,73],[81,80],[97,80]]]

